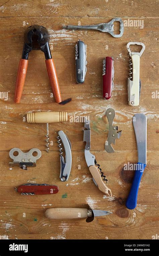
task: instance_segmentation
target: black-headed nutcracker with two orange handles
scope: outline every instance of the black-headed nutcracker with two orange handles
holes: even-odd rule
[[[23,91],[25,77],[28,68],[28,57],[32,50],[41,50],[45,54],[45,63],[50,79],[52,91],[57,103],[61,102],[61,93],[55,69],[55,64],[51,56],[49,47],[49,32],[43,26],[33,25],[28,27],[24,32],[24,46],[22,52],[22,58],[19,62],[14,102],[19,103]]]

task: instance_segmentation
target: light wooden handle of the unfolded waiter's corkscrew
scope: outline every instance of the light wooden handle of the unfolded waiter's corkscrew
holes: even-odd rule
[[[100,170],[94,165],[90,166],[89,170],[92,174],[93,179],[97,183],[99,190],[102,191],[104,194],[112,196],[110,188],[108,188],[102,180]]]

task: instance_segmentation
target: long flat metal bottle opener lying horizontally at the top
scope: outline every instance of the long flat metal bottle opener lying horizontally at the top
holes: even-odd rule
[[[114,22],[118,21],[120,22],[120,34],[114,34]],[[124,32],[124,23],[120,18],[114,18],[108,23],[100,23],[97,25],[88,25],[88,26],[63,26],[65,29],[85,29],[85,30],[99,30],[101,32],[107,32],[111,34],[113,37],[121,37]]]

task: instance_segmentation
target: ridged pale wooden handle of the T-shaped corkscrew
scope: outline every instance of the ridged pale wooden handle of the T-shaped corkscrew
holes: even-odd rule
[[[37,123],[37,124],[67,122],[67,112],[49,111],[49,112],[28,113],[27,122]]]

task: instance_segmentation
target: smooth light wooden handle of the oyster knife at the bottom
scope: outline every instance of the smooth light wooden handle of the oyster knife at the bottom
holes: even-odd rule
[[[88,217],[88,209],[82,208],[50,208],[46,210],[48,219],[81,219]],[[91,217],[91,216],[90,216]]]

